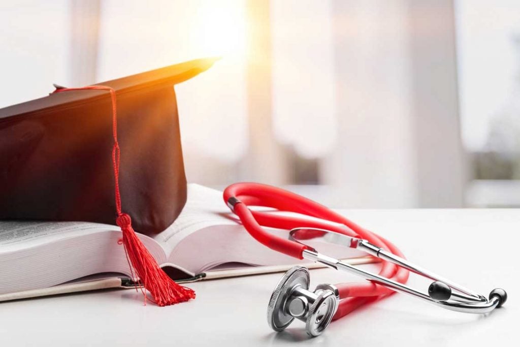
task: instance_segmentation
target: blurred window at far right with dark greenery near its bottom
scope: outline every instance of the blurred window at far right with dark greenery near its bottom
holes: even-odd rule
[[[461,131],[473,206],[520,206],[520,2],[458,0]]]

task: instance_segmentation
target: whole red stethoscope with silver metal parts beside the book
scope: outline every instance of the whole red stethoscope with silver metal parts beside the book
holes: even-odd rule
[[[337,270],[359,275],[368,281],[322,284],[309,290],[309,271],[295,266],[286,272],[272,292],[267,319],[272,329],[281,331],[298,318],[305,322],[306,332],[318,336],[333,319],[338,319],[368,302],[386,297],[394,291],[412,295],[445,309],[466,313],[488,313],[502,306],[507,294],[503,289],[491,291],[489,298],[414,265],[391,242],[356,225],[323,205],[280,188],[237,183],[224,190],[224,200],[240,219],[249,234],[275,251],[308,259]],[[250,206],[270,207],[318,219],[256,211]],[[326,220],[335,223],[327,223]],[[336,224],[337,223],[337,224]],[[272,235],[262,228],[290,230],[289,237]],[[382,261],[381,271],[374,274],[344,261],[319,253],[305,241],[332,242],[365,251]],[[434,280],[428,292],[406,285],[409,271]]]

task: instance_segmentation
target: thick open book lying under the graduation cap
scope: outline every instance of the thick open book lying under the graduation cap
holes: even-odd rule
[[[285,271],[306,262],[258,243],[226,207],[222,192],[196,184],[188,185],[186,205],[170,227],[138,235],[164,271],[181,281]],[[121,237],[119,227],[107,224],[0,221],[0,301],[133,286]],[[337,245],[319,250],[355,264],[372,260]]]

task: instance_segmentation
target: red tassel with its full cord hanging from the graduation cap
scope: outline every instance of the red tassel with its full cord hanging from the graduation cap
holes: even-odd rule
[[[168,277],[159,267],[157,261],[155,261],[150,252],[146,249],[145,245],[143,245],[139,237],[137,237],[132,228],[132,220],[130,216],[123,213],[121,210],[121,195],[119,192],[119,161],[121,151],[118,143],[118,117],[114,89],[102,85],[93,85],[81,88],[57,87],[54,93],[84,90],[101,90],[110,92],[112,101],[112,133],[114,137],[112,164],[114,168],[115,208],[118,213],[115,222],[123,232],[123,245],[132,275],[137,275],[142,286],[150,292],[153,301],[159,306],[173,305],[179,302],[195,299],[195,292],[193,290],[176,284],[175,281]],[[145,295],[146,304],[146,292],[143,291],[143,293]]]

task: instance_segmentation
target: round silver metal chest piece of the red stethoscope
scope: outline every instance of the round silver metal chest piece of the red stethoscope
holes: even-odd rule
[[[318,336],[332,320],[339,302],[339,293],[332,285],[319,285],[309,291],[307,268],[294,266],[278,282],[267,308],[272,329],[282,331],[298,318],[305,322],[305,331]]]

